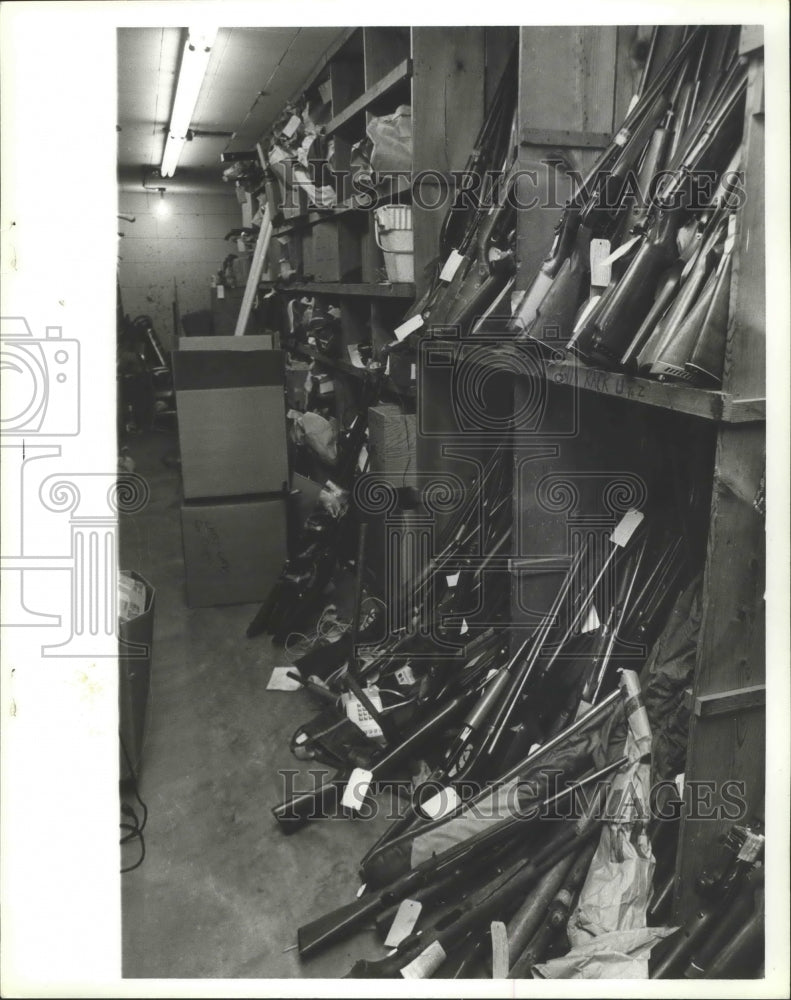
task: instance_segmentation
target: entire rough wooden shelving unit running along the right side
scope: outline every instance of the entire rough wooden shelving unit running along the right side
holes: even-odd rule
[[[678,27],[676,38],[673,30],[663,36],[668,52],[657,54],[657,65],[680,40],[683,28]],[[531,415],[533,424],[529,433],[516,437],[513,456],[515,546],[509,566],[515,641],[520,624],[534,622],[546,610],[557,586],[550,572],[526,571],[528,556],[555,558],[561,572],[569,533],[593,530],[586,511],[601,507],[601,491],[608,484],[620,481],[623,490],[633,490],[635,503],[645,500],[644,491],[654,504],[661,506],[663,498],[677,504],[678,497],[670,497],[674,466],[697,470],[697,485],[704,497],[710,495],[710,505],[705,523],[691,533],[700,539],[700,551],[691,558],[703,566],[704,601],[690,697],[687,778],[743,780],[749,806],[762,793],[765,742],[765,540],[763,519],[753,504],[763,473],[766,415],[763,50],[758,36],[754,29],[742,32],[742,51],[750,65],[742,159],[747,197],[738,221],[722,389],[604,371],[558,351],[545,357],[532,376],[518,369],[509,372],[507,365],[495,370],[494,357],[482,362],[493,366],[490,387],[496,386],[497,405],[487,413],[488,424],[480,434],[465,425],[456,405],[458,372],[452,362],[418,364],[416,400],[418,470],[451,472],[462,479],[474,475],[483,457],[502,443],[510,414]],[[287,281],[271,285],[285,297],[335,298],[343,350],[370,343],[374,356],[380,356],[410,303],[425,290],[435,262],[444,213],[420,204],[435,200],[437,174],[464,167],[512,42],[518,42],[520,58],[519,167],[540,169],[560,151],[584,174],[635,92],[640,71],[632,58],[636,37],[636,28],[614,25],[350,30],[306,88],[326,85],[331,93],[324,127],[335,143],[339,169],[348,169],[352,145],[364,137],[372,114],[411,103],[412,183],[383,188],[377,198],[378,203],[412,203],[414,282],[381,281],[384,261],[374,240],[373,212],[344,191],[332,209],[305,204],[278,227],[276,235],[295,248],[298,266]],[[435,173],[427,177],[422,171]],[[569,193],[568,175],[558,172],[555,181],[553,195],[560,206]],[[418,190],[422,199],[415,198]],[[559,207],[518,213],[516,290],[530,284],[551,245],[559,214]],[[314,273],[316,262],[326,259],[315,251],[328,234],[335,241],[332,263],[339,271],[332,281]],[[464,348],[444,349],[453,355]],[[307,347],[300,351],[337,376],[343,419],[362,369],[345,357],[328,358]],[[542,505],[538,488],[548,477],[570,484],[575,505],[562,510]],[[696,904],[694,876],[728,822],[683,820],[676,917]]]

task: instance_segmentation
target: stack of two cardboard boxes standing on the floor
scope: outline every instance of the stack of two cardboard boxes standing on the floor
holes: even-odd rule
[[[190,607],[260,602],[286,557],[284,355],[190,337],[173,355]]]

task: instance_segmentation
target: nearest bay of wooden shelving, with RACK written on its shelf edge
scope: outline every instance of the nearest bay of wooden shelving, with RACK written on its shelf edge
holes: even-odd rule
[[[592,165],[634,93],[635,35],[635,28],[616,26],[520,29],[521,167],[535,169],[547,155],[557,158],[558,149],[583,174]],[[607,516],[591,515],[606,510],[608,489],[619,489],[624,497],[631,491],[634,505],[650,500],[654,509],[665,502],[677,506],[670,487],[679,464],[692,470],[703,491],[697,509],[706,510],[710,494],[708,517],[690,532],[698,546],[690,558],[703,567],[703,607],[686,779],[714,782],[715,808],[724,781],[743,781],[748,810],[763,794],[765,759],[765,538],[754,505],[763,475],[766,416],[761,45],[754,30],[743,30],[742,52],[750,64],[741,164],[747,190],[738,219],[721,391],[603,371],[565,350],[547,352],[532,374],[519,365],[509,372],[507,363],[482,350],[480,364],[490,367],[492,381],[488,402],[480,403],[486,420],[475,426],[476,413],[465,416],[460,405],[457,364],[471,345],[442,344],[434,363],[423,357],[418,365],[423,472],[469,479],[476,461],[506,438],[509,416],[524,415],[524,433],[513,439],[509,570],[515,644],[523,636],[520,624],[534,624],[550,606],[574,533],[606,526]],[[557,181],[556,203],[562,205],[568,191],[562,175]],[[529,286],[559,215],[560,208],[519,213],[518,289]],[[420,354],[431,347],[424,340]],[[466,405],[474,411],[469,396]],[[465,427],[465,420],[473,426]],[[542,484],[550,482],[563,494],[557,494],[556,509],[539,496]],[[683,514],[683,503],[681,509]],[[532,572],[538,555],[556,559],[557,572],[548,571],[549,562],[541,573]],[[695,878],[732,822],[727,816],[682,820],[674,920],[683,922],[698,905]]]

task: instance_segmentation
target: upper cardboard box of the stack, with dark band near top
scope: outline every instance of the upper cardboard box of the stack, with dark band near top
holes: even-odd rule
[[[265,342],[182,340],[173,353],[185,499],[282,491],[288,479],[284,355],[260,350]]]

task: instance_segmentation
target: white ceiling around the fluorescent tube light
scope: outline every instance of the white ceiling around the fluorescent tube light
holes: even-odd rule
[[[220,28],[175,175],[152,186],[227,190],[220,153],[253,147],[347,28]],[[118,180],[139,191],[162,162],[186,28],[118,30]]]

